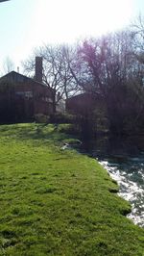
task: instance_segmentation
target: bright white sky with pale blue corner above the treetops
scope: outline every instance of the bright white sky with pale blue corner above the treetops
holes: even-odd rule
[[[16,66],[42,43],[74,42],[127,26],[144,0],[11,0],[0,4],[0,66]],[[16,69],[16,68],[15,68]]]

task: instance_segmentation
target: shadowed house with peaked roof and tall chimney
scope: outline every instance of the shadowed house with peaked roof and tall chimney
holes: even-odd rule
[[[35,79],[12,71],[0,78],[0,122],[32,121],[53,113],[53,90],[42,83],[42,59],[36,57]]]

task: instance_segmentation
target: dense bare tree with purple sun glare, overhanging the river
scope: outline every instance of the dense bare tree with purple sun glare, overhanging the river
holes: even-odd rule
[[[142,123],[142,65],[134,57],[132,33],[122,31],[84,40],[78,48],[83,90],[105,100],[112,133],[123,133]],[[142,95],[142,97],[141,97]]]

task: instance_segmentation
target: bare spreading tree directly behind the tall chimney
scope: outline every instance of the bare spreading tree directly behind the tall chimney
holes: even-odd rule
[[[77,83],[70,72],[74,60],[72,48],[67,45],[43,45],[35,50],[33,56],[23,63],[25,73],[35,77],[35,56],[43,59],[43,83],[52,89],[53,110],[62,97],[67,98],[78,90]],[[59,96],[57,96],[59,95]]]

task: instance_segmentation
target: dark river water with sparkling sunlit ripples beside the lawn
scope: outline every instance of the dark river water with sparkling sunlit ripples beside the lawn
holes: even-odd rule
[[[119,184],[119,195],[132,204],[128,218],[144,227],[144,137],[99,137],[84,141],[81,150],[108,170]]]

